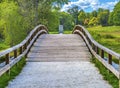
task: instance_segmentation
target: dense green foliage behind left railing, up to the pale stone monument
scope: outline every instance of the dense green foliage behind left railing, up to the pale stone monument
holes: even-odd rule
[[[68,0],[2,0],[0,2],[0,41],[13,46],[21,42],[33,27],[44,24],[49,31],[59,25],[61,5]]]

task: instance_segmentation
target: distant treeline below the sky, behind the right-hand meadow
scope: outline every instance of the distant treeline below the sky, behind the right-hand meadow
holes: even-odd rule
[[[108,9],[99,8],[91,13],[86,13],[83,10],[79,11],[78,6],[68,10],[68,13],[74,18],[75,24],[81,24],[85,26],[95,25],[120,25],[120,2],[118,2],[113,11]],[[65,18],[64,18],[65,19]]]

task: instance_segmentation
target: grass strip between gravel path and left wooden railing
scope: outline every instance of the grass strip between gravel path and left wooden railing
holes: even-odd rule
[[[23,57],[16,65],[14,65],[11,69],[10,69],[10,75],[8,73],[3,74],[0,77],[0,88],[5,88],[9,81],[14,79],[22,70],[22,68],[24,67],[24,65],[26,64],[25,62],[25,58]]]

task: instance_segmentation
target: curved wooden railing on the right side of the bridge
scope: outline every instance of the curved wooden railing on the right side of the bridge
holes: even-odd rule
[[[112,57],[115,57],[120,61],[120,54],[100,45],[89,34],[89,32],[81,25],[76,25],[73,34],[79,34],[85,41],[90,52],[95,56],[108,70],[110,70],[118,79],[120,79],[120,68],[116,70],[112,66]],[[105,53],[108,54],[108,62],[104,60]]]

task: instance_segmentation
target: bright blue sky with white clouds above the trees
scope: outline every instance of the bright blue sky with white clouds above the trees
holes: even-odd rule
[[[98,8],[112,11],[118,1],[120,0],[70,0],[68,4],[63,5],[61,11],[67,11],[74,6],[78,6],[79,9],[83,9],[85,12],[92,12]]]

